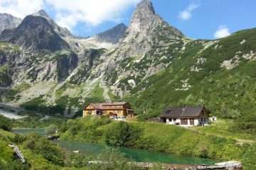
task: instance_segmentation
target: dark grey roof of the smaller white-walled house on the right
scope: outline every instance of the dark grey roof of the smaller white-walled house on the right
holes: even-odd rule
[[[176,118],[176,117],[197,117],[200,115],[204,106],[186,106],[164,108],[160,118]]]

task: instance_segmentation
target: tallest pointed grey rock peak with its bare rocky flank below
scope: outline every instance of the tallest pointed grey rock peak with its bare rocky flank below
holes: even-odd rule
[[[142,79],[156,74],[169,64],[161,62],[156,64],[157,60],[161,60],[157,53],[161,50],[168,51],[170,49],[173,52],[181,50],[173,49],[173,47],[185,42],[186,37],[181,31],[162,19],[154,11],[151,1],[144,0],[137,4],[129,27],[119,40],[117,47],[112,52],[102,55],[102,60],[106,62],[102,62],[100,68],[99,66],[92,67],[92,70],[96,72],[97,77],[103,76],[107,72],[118,72],[115,81],[111,76],[107,76],[105,83],[109,84],[110,81],[114,81],[112,87],[114,93],[123,96],[129,93],[131,86],[136,86]],[[171,62],[173,52],[169,52],[169,56],[163,55],[162,58],[167,58]],[[124,64],[127,61],[130,62],[129,65]],[[137,66],[143,67],[143,69],[138,69]],[[94,77],[95,75],[92,75],[92,79]],[[126,82],[120,81],[123,79]],[[125,87],[124,84],[127,84],[128,81],[131,86]]]

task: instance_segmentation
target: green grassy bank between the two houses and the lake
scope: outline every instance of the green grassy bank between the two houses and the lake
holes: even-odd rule
[[[79,118],[68,120],[60,126],[60,139],[72,142],[90,142],[105,145],[149,149],[158,152],[181,154],[222,160],[240,160],[246,146],[236,145],[236,140],[214,135],[204,135],[194,130],[159,123],[119,123],[107,118]],[[128,132],[129,131],[129,132]],[[128,133],[125,133],[128,132]],[[122,136],[127,135],[124,141]]]

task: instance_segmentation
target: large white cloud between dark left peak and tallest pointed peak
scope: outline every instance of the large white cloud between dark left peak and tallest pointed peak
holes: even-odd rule
[[[120,22],[122,13],[140,0],[46,0],[56,13],[60,26],[72,29],[82,22],[87,26],[98,26],[103,21]]]

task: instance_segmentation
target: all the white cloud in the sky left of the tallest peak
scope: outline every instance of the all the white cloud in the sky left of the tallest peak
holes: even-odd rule
[[[41,8],[53,11],[55,21],[72,29],[78,23],[86,27],[98,26],[103,21],[122,21],[124,11],[140,0],[0,0],[0,12],[24,18]]]

